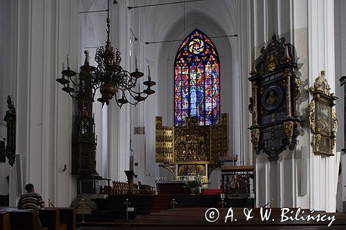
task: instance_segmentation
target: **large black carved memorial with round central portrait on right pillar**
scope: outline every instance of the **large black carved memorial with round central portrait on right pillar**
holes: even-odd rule
[[[295,47],[285,39],[272,41],[261,50],[251,70],[251,142],[255,153],[263,150],[269,161],[277,161],[289,146],[293,150],[300,124],[298,98],[301,81],[295,74]]]

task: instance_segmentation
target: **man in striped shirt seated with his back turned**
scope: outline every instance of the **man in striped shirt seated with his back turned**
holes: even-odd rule
[[[18,202],[18,209],[34,209],[39,210],[44,208],[44,201],[42,200],[41,195],[35,193],[33,184],[26,184],[25,186],[26,193],[21,195]]]

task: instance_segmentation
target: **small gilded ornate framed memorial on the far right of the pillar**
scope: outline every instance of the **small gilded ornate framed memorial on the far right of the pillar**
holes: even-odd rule
[[[313,99],[309,105],[310,127],[312,133],[313,153],[334,155],[338,120],[336,119],[335,102],[338,97],[330,93],[325,78],[325,71],[310,88]]]

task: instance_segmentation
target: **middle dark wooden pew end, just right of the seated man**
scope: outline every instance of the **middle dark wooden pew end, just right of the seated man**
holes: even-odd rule
[[[66,230],[66,224],[61,222],[58,209],[45,208],[39,210],[39,218],[42,226],[48,227],[48,230]]]

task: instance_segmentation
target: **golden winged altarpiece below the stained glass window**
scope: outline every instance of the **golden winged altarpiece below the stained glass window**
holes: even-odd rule
[[[163,126],[156,117],[156,163],[169,170],[176,180],[183,175],[203,175],[208,182],[212,170],[228,156],[228,114],[221,123],[200,126],[197,117],[186,117],[185,126]]]

